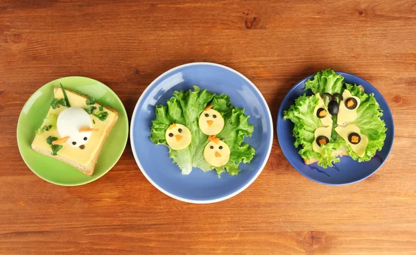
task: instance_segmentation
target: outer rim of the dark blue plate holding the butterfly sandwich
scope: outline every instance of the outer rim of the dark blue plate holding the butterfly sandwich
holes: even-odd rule
[[[390,153],[392,152],[393,143],[395,142],[395,120],[394,120],[393,114],[392,114],[392,112],[390,110],[390,106],[388,106],[388,103],[385,100],[383,94],[381,94],[380,91],[378,89],[376,89],[376,87],[374,87],[370,82],[368,82],[367,80],[365,80],[365,79],[363,79],[363,78],[361,78],[359,76],[356,76],[356,75],[354,75],[352,73],[347,73],[347,72],[343,72],[343,71],[335,71],[335,72],[338,73],[338,74],[340,74],[340,75],[347,74],[349,76],[353,76],[353,77],[358,78],[360,80],[364,80],[365,82],[368,83],[368,85],[370,85],[373,89],[375,89],[377,92],[379,92],[379,95],[381,96],[381,100],[383,100],[383,103],[385,103],[385,105],[387,105],[387,112],[388,112],[388,114],[390,114],[390,116],[392,118],[392,146],[390,146],[390,148],[388,149],[388,153],[387,153],[387,156],[385,157],[384,161],[376,168],[376,170],[374,170],[370,175],[367,175],[366,177],[363,177],[363,178],[358,179],[358,180],[353,181],[353,182],[345,182],[345,183],[342,183],[342,184],[331,184],[329,182],[322,182],[322,181],[318,181],[317,179],[313,179],[312,177],[309,177],[308,175],[305,175],[304,173],[302,173],[300,170],[297,170],[297,168],[295,168],[295,166],[293,166],[291,159],[288,159],[288,157],[286,157],[286,153],[284,152],[283,149],[281,149],[281,152],[283,152],[284,157],[291,164],[291,166],[293,168],[295,168],[295,170],[297,170],[297,172],[301,173],[304,177],[306,177],[308,179],[311,179],[314,182],[318,182],[319,184],[324,184],[324,185],[328,185],[328,186],[345,186],[345,185],[355,184],[357,182],[363,181],[364,179],[367,179],[368,177],[374,175],[374,173],[376,173],[381,168],[381,166],[383,166],[383,164],[385,164],[385,161],[387,161],[388,157],[390,156]],[[316,73],[313,73],[310,76],[306,76],[305,78],[302,78],[291,89],[289,89],[289,91],[284,96],[283,100],[281,100],[281,103],[280,103],[280,106],[279,106],[279,112],[277,112],[277,121],[276,121],[277,141],[279,142],[279,147],[280,148],[281,148],[281,145],[280,145],[280,139],[279,139],[279,137],[281,137],[281,132],[279,132],[279,128],[277,128],[277,127],[279,125],[279,121],[283,121],[283,111],[284,111],[284,109],[282,109],[281,107],[283,106],[283,103],[286,100],[286,98],[288,97],[288,95],[291,94],[291,92],[297,86],[299,86],[302,82],[306,82],[307,79],[312,78],[313,76],[315,76],[315,74]],[[383,112],[386,112],[386,111],[383,109]]]

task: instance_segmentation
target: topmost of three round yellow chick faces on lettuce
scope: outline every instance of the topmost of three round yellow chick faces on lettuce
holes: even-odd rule
[[[205,107],[204,112],[199,117],[198,124],[202,133],[207,135],[215,135],[224,128],[224,118],[215,109],[211,109],[212,105]]]

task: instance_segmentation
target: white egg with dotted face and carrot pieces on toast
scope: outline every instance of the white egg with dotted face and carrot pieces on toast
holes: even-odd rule
[[[69,107],[64,109],[56,121],[56,129],[60,135],[60,139],[53,141],[52,144],[67,143],[69,146],[85,148],[85,143],[91,137],[92,121],[89,114],[81,107]]]

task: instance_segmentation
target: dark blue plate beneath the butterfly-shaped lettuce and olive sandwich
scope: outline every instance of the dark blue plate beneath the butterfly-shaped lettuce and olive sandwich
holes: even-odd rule
[[[387,128],[386,139],[384,141],[383,150],[376,152],[376,155],[366,162],[359,163],[353,160],[349,156],[340,157],[340,162],[334,164],[334,166],[328,168],[322,168],[316,163],[311,165],[304,164],[302,158],[298,154],[299,149],[295,148],[295,137],[293,137],[293,123],[290,120],[283,120],[283,111],[288,109],[295,103],[295,99],[306,92],[306,95],[312,95],[312,91],[304,91],[305,82],[309,78],[313,78],[314,75],[309,76],[301,80],[293,87],[281,102],[279,108],[279,114],[277,116],[277,137],[281,150],[283,151],[286,159],[292,164],[292,166],[298,170],[302,175],[313,179],[315,182],[329,185],[345,185],[359,182],[378,170],[392,149],[393,139],[395,136],[395,125],[393,123],[392,113],[390,108],[385,102],[383,96],[377,91],[369,82],[354,76],[350,73],[336,72],[344,76],[344,81],[347,83],[355,83],[364,87],[365,93],[374,93],[374,97],[379,103],[381,109],[383,109],[383,116],[381,119],[385,121]]]

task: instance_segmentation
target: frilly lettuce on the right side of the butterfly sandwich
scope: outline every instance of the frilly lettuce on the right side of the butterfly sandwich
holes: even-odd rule
[[[380,108],[379,103],[377,103],[376,98],[374,98],[374,94],[366,94],[357,85],[345,83],[345,86],[353,96],[361,100],[360,106],[357,109],[357,118],[352,123],[357,125],[361,133],[368,137],[368,145],[365,148],[365,155],[363,157],[358,157],[349,146],[347,146],[348,155],[354,160],[358,159],[360,162],[369,161],[374,157],[376,151],[381,150],[384,145],[385,131],[387,128],[385,128],[385,122],[380,118],[383,116],[383,110]],[[340,138],[340,140],[343,139]]]

